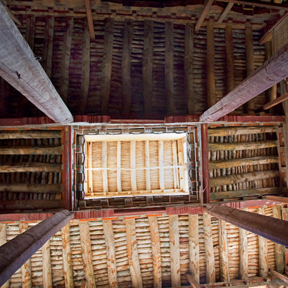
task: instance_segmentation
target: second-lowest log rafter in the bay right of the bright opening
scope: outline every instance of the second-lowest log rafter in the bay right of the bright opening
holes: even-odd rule
[[[229,184],[235,183],[243,183],[247,181],[255,181],[255,180],[262,180],[262,179],[269,179],[279,177],[278,170],[266,170],[260,172],[250,172],[244,174],[233,174],[224,177],[215,177],[209,179],[209,186],[216,187],[216,186],[224,186]]]

